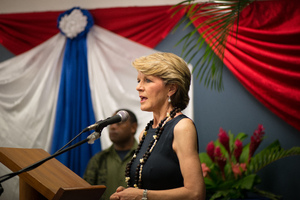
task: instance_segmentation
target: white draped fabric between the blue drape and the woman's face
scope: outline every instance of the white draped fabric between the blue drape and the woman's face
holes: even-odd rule
[[[119,108],[128,108],[138,116],[137,132],[141,132],[152,116],[139,109],[135,90],[137,72],[131,62],[156,51],[97,26],[89,32],[87,43],[90,89],[96,120],[110,116]],[[106,133],[107,129],[104,129],[101,136],[103,149],[111,144]]]

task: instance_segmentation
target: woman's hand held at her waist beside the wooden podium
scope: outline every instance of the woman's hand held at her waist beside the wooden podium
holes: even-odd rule
[[[143,190],[136,188],[118,187],[116,192],[110,196],[110,200],[140,200],[143,196]]]

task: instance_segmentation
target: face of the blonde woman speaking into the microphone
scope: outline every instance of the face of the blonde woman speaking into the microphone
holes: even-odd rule
[[[137,82],[136,90],[139,92],[141,110],[159,112],[164,105],[168,105],[169,87],[161,78],[138,72]]]

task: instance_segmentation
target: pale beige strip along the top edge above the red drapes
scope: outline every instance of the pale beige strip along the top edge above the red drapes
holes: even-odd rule
[[[75,6],[83,9],[175,5],[183,0],[0,0],[0,14],[68,10]],[[197,0],[204,2],[209,0]]]

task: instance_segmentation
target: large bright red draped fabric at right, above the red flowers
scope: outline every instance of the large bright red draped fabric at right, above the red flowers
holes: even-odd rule
[[[252,95],[300,130],[300,1],[247,6],[237,38],[236,26],[228,37],[223,61]]]

